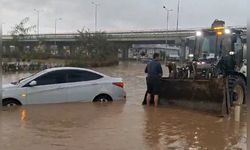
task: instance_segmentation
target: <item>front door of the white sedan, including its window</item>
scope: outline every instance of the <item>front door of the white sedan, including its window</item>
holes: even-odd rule
[[[67,102],[65,71],[52,71],[32,81],[36,81],[37,84],[27,86],[27,100],[29,104]]]

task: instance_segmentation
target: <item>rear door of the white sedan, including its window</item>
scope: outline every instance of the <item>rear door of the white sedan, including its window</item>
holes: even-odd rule
[[[103,76],[84,70],[68,70],[67,75],[69,102],[92,101],[99,92],[98,80]]]

